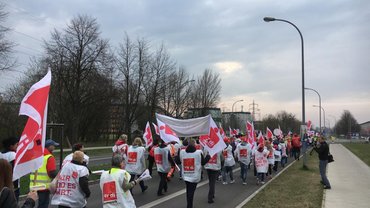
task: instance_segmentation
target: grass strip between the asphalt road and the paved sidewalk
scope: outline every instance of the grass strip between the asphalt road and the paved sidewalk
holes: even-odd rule
[[[302,161],[296,162],[245,204],[244,208],[320,208],[323,188],[317,155],[307,156],[307,167],[303,169]]]

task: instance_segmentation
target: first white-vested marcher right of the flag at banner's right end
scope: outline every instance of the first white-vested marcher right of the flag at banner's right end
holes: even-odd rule
[[[233,154],[232,146],[230,145],[230,139],[224,139],[226,143],[226,148],[222,151],[222,154],[225,158],[224,167],[222,170],[222,184],[227,184],[227,176],[230,177],[230,183],[235,183],[234,176],[233,176],[233,167],[235,165],[235,159]]]

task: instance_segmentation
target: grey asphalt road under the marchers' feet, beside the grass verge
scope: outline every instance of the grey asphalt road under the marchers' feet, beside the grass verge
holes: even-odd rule
[[[292,158],[288,159],[288,163],[292,161]],[[278,171],[281,171],[281,167],[279,167]],[[275,174],[276,173],[273,175]],[[248,170],[247,185],[242,185],[238,165],[234,167],[234,179],[234,184],[223,185],[221,182],[216,182],[215,203],[208,204],[208,180],[205,171],[204,179],[198,183],[195,191],[194,207],[236,207],[261,187],[256,185],[253,168]],[[136,186],[133,189],[133,196],[137,207],[186,207],[185,182],[179,180],[178,173],[176,173],[175,177],[168,183],[168,192],[161,197],[157,196],[159,177],[156,171],[153,171],[153,178],[145,183],[149,188],[144,193],[141,193],[140,186]],[[90,185],[90,190],[92,194],[88,199],[87,207],[102,207],[99,184]]]

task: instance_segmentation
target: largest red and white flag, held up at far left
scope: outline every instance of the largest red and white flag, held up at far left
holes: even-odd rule
[[[23,98],[19,115],[28,116],[17,148],[13,180],[36,171],[42,166],[47,123],[47,106],[51,72],[32,85]]]

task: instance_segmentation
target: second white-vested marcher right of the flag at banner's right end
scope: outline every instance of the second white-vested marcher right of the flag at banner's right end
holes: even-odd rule
[[[241,143],[236,146],[235,157],[240,164],[240,175],[243,185],[247,184],[248,165],[251,162],[251,145],[247,143],[247,137],[242,137]]]

